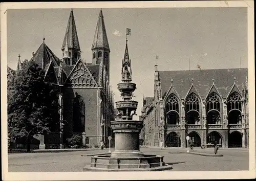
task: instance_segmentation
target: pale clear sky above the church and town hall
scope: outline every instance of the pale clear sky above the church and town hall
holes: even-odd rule
[[[30,59],[42,43],[61,58],[71,9],[7,11],[7,63],[16,70],[18,54]],[[73,9],[82,58],[92,62],[92,42],[100,9]],[[247,8],[103,8],[110,45],[110,82],[121,100],[121,61],[126,28],[139,116],[143,95],[154,96],[154,65],[159,71],[247,67]],[[44,31],[45,30],[45,31]],[[134,117],[138,119],[138,117]]]

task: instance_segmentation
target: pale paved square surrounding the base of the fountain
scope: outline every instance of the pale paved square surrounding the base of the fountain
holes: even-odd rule
[[[112,150],[113,151],[113,150]],[[223,157],[209,157],[186,153],[182,148],[141,148],[145,154],[164,156],[164,162],[173,165],[173,171],[238,171],[249,170],[249,151],[247,149],[220,149]],[[213,149],[197,152],[212,153]],[[58,153],[18,153],[8,155],[9,172],[80,172],[90,164],[91,156],[86,154],[108,153],[107,150],[75,151]],[[172,171],[172,170],[170,170]]]

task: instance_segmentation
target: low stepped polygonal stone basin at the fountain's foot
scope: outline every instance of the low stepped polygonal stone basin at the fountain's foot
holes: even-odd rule
[[[161,171],[172,169],[163,162],[163,156],[143,155],[143,157],[111,157],[111,154],[91,157],[91,164],[83,171]]]

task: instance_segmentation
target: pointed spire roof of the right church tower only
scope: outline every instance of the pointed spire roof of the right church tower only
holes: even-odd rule
[[[106,29],[101,9],[99,12],[98,22],[92,44],[92,50],[96,48],[104,48],[110,51],[109,41],[108,37],[106,36]]]

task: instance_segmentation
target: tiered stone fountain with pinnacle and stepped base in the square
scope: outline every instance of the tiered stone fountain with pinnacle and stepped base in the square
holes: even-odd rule
[[[145,155],[140,151],[139,133],[143,122],[133,120],[138,102],[132,100],[136,84],[131,82],[132,69],[127,40],[121,75],[122,83],[118,83],[117,86],[123,101],[116,102],[121,119],[111,122],[115,134],[115,151],[111,154],[91,157],[91,165],[84,167],[83,171],[161,171],[172,169],[172,166],[163,162],[163,156]]]

